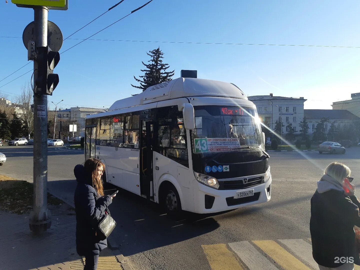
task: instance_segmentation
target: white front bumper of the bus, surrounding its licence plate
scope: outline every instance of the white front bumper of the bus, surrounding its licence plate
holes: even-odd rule
[[[216,213],[270,201],[271,176],[265,183],[247,189],[217,190],[193,181],[194,212]],[[254,195],[236,198],[237,192],[254,190]],[[235,198],[234,198],[235,197]]]

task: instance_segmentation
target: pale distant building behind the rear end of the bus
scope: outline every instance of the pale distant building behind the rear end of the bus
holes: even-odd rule
[[[66,125],[74,123],[77,125],[77,132],[74,136],[85,136],[85,118],[88,115],[100,112],[107,112],[108,109],[71,107],[70,109],[59,110],[57,112],[57,123],[62,121]],[[67,130],[69,127],[65,127]],[[63,128],[62,128],[63,129]]]

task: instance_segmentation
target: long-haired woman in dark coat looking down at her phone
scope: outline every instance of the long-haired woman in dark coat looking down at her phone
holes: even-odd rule
[[[84,166],[76,165],[74,174],[78,182],[74,195],[76,212],[76,251],[85,256],[84,270],[96,270],[99,253],[107,247],[107,240],[96,238],[97,220],[105,215],[106,208],[116,194],[104,196],[101,179],[105,165],[89,158]]]

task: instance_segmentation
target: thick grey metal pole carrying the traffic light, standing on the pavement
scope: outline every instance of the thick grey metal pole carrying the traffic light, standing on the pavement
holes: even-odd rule
[[[48,9],[45,6],[34,8],[35,46],[48,46]],[[34,61],[34,85],[37,77],[37,61]],[[51,213],[48,210],[48,96],[34,95],[34,148],[33,148],[33,211],[30,213],[30,230],[35,233],[45,231],[51,226]],[[45,110],[45,112],[44,112]],[[45,113],[42,114],[41,112]]]

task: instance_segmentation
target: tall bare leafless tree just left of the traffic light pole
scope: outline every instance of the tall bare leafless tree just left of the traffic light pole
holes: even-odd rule
[[[21,87],[21,94],[17,99],[17,103],[20,105],[22,113],[21,118],[26,125],[28,136],[34,132],[34,113],[31,111],[31,104],[33,104],[33,91],[31,89],[30,82],[24,84]]]

